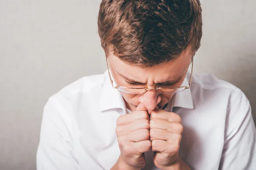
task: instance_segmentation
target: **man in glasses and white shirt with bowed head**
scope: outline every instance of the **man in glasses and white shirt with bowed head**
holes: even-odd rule
[[[98,27],[108,70],[49,98],[38,170],[256,169],[246,96],[192,74],[199,0],[102,0]]]

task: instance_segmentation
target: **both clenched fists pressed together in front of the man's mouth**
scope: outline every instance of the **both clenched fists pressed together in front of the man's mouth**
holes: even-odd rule
[[[140,103],[136,111],[119,116],[116,124],[121,155],[112,169],[141,170],[144,153],[152,149],[160,170],[190,170],[178,155],[183,126],[176,113],[155,108],[149,115]]]

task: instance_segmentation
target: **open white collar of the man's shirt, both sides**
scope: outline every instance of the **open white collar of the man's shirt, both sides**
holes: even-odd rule
[[[190,73],[187,74],[187,77]],[[188,78],[185,77],[182,86],[189,86]],[[172,101],[172,100],[171,100]],[[185,89],[175,94],[173,107],[193,109],[192,94],[189,89]],[[104,73],[104,83],[102,87],[102,94],[100,97],[99,109],[100,111],[107,111],[110,109],[122,109],[126,113],[125,102],[120,92],[113,88],[108,76],[108,70]]]

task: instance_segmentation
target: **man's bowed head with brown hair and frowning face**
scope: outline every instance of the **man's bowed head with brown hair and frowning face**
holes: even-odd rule
[[[201,6],[199,0],[102,0],[98,27],[117,85],[155,88],[179,78],[179,86],[200,47]],[[125,84],[131,80],[137,84]],[[173,94],[122,96],[131,110],[140,102],[151,110]]]

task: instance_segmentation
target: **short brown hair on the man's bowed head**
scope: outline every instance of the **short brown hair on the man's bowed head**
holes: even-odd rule
[[[102,0],[98,31],[106,55],[122,61],[158,65],[176,59],[188,47],[200,47],[199,0]]]

